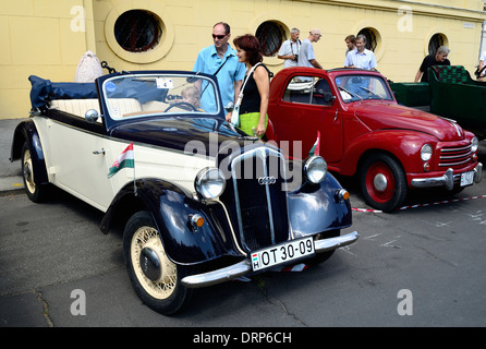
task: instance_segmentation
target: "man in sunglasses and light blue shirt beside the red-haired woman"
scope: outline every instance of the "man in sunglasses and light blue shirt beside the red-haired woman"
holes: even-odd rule
[[[215,24],[212,27],[215,45],[199,51],[193,68],[195,72],[216,74],[223,107],[229,101],[236,103],[246,73],[245,64],[238,61],[236,51],[228,44],[230,37],[230,26],[227,23]],[[208,112],[216,111],[218,106],[212,88],[205,88],[203,84],[202,93],[201,108]]]

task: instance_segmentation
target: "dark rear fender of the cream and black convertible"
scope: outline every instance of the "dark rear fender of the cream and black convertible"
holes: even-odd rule
[[[42,145],[39,133],[32,119],[24,120],[17,124],[13,133],[12,147],[10,151],[10,161],[22,158],[22,146],[27,142],[31,149],[32,163],[34,166],[34,182],[36,184],[46,184],[49,182],[44,157]]]

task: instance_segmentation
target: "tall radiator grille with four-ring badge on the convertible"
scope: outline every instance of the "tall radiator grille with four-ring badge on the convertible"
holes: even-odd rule
[[[239,237],[246,251],[285,241],[289,237],[283,156],[260,147],[231,165]]]

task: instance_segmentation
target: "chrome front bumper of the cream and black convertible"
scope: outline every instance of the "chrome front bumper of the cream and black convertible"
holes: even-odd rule
[[[357,231],[353,231],[342,237],[317,240],[314,242],[314,248],[316,253],[323,253],[352,244],[356,242],[357,238],[360,234]],[[186,276],[181,281],[187,288],[201,288],[230,281],[251,272],[250,261],[244,260],[221,269]]]

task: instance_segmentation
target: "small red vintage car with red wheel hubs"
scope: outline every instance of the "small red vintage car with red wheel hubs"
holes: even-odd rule
[[[331,171],[357,176],[367,203],[390,212],[409,189],[451,194],[478,183],[478,140],[455,121],[398,105],[387,80],[359,69],[283,69],[271,81],[269,137],[288,155],[319,155]]]

